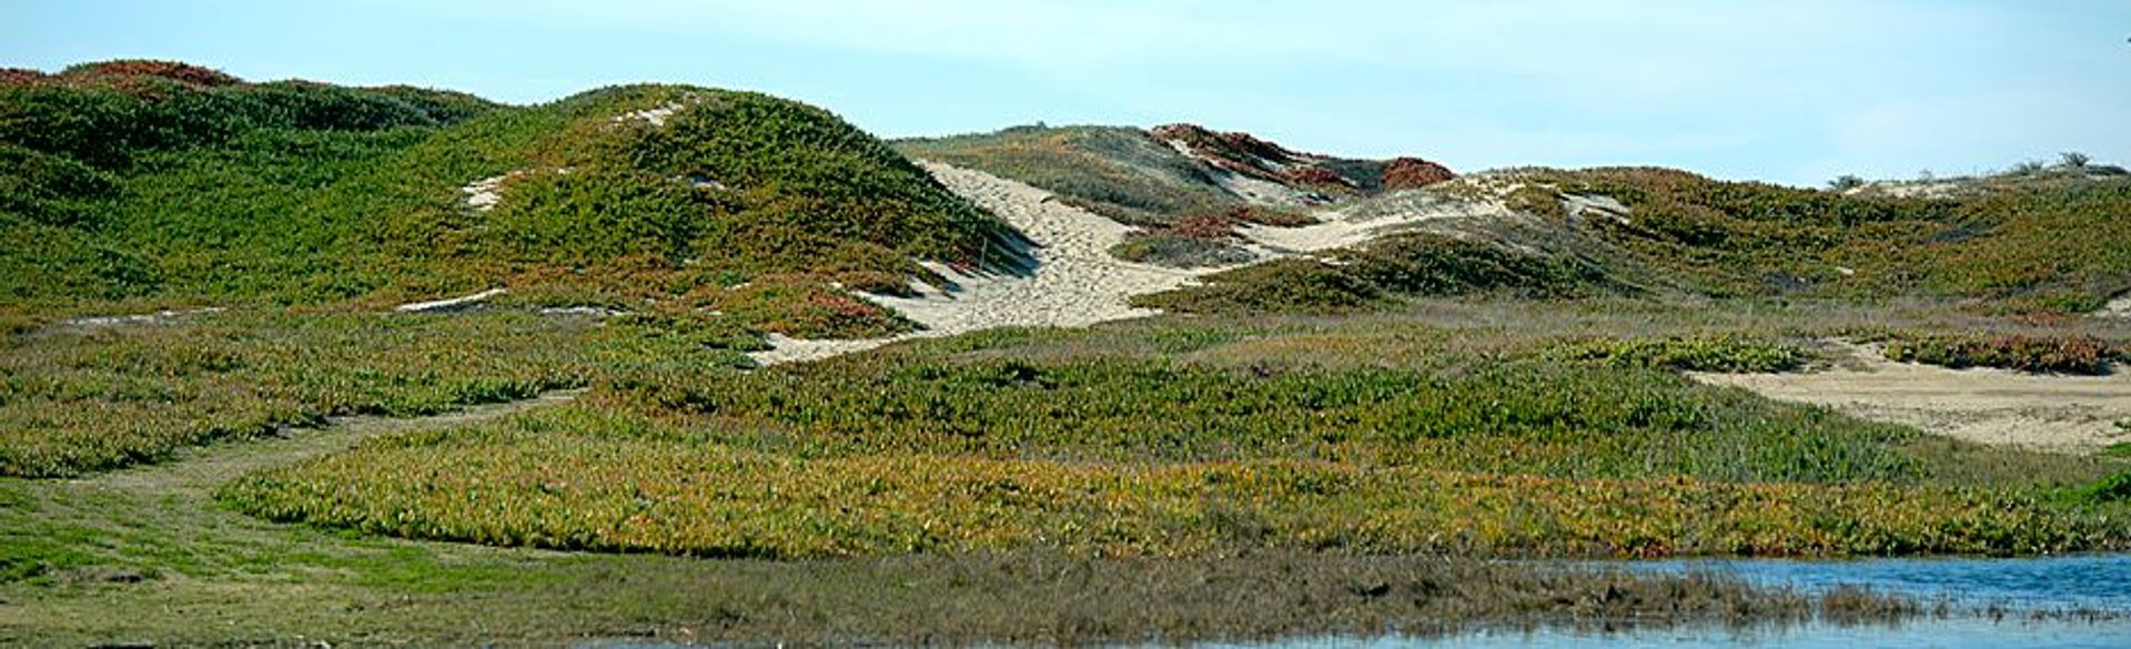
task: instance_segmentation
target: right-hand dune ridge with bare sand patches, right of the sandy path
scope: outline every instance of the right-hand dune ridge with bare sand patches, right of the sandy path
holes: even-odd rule
[[[1357,311],[1411,296],[1943,300],[2088,313],[2131,292],[2131,179],[2103,164],[1833,189],[1664,168],[1455,177],[1198,126],[897,143],[1138,226],[1112,253],[1217,268],[1178,311]],[[1270,260],[1270,262],[1268,262]],[[1268,262],[1268,264],[1257,264]]]

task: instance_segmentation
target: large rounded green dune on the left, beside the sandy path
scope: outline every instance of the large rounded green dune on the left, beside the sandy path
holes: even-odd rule
[[[901,323],[831,285],[897,292],[921,260],[1016,249],[835,115],[707,87],[503,106],[164,62],[9,70],[0,157],[0,296],[62,313],[509,287],[850,334]]]

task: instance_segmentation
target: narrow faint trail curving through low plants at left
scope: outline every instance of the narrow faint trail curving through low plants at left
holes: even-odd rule
[[[528,400],[469,406],[433,417],[337,417],[324,428],[294,428],[277,438],[228,440],[181,449],[177,451],[177,457],[164,462],[121,468],[79,479],[75,483],[124,492],[209,498],[215,487],[222,487],[224,483],[247,472],[339,453],[367,438],[394,432],[439,430],[494,421],[531,409],[565,404],[575,400],[580,394],[584,392],[550,392]]]

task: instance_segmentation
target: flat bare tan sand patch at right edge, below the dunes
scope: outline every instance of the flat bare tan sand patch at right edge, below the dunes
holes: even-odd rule
[[[2065,377],[1948,370],[1897,364],[1875,347],[1843,349],[1852,360],[1822,372],[1692,377],[1984,445],[2093,453],[2131,440],[2131,434],[2116,428],[2116,421],[2131,419],[2131,372]]]

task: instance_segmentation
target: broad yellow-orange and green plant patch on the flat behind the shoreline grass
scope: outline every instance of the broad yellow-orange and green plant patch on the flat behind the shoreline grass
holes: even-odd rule
[[[1788,347],[1615,343],[1628,353],[1562,366],[1541,357],[1594,343],[1409,330],[1426,362],[1404,368],[1259,353],[1366,349],[1340,340],[1362,330],[1170,326],[1134,343],[1181,353],[1170,362],[1104,351],[1129,336],[1029,332],[616,377],[578,409],[379,440],[224,498],[413,538],[780,560],[2044,553],[2131,538],[2118,504],[2050,496],[2101,479],[2101,460],[1922,453],[1907,428],[1647,368],[1794,364]],[[1230,366],[1230,349],[1249,362]],[[1990,470],[2007,462],[2027,468]]]

